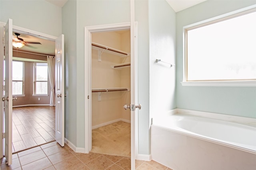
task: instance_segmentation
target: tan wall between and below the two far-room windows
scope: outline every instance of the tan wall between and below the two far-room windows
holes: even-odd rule
[[[50,104],[50,83],[48,77],[48,96],[32,96],[33,95],[33,62],[24,62],[24,94],[18,97],[17,101],[13,101],[12,106],[23,105],[46,105]],[[40,100],[38,100],[40,98]]]

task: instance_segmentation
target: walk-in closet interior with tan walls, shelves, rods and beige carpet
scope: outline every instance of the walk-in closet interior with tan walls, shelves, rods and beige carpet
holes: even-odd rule
[[[92,33],[92,150],[130,156],[130,30]]]

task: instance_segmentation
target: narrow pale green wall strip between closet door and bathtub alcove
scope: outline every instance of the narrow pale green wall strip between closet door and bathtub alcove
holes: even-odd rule
[[[149,23],[148,1],[135,0],[138,22],[138,153],[150,154],[149,133]]]

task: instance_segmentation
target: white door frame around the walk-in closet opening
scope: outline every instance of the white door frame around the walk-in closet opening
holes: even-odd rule
[[[137,24],[134,25],[134,29],[137,30]],[[85,84],[85,105],[84,105],[84,110],[85,110],[85,121],[84,121],[84,132],[85,132],[85,144],[84,144],[84,151],[85,153],[89,153],[90,150],[92,149],[92,77],[91,77],[91,70],[92,70],[92,33],[96,32],[104,32],[104,31],[121,31],[125,29],[132,29],[130,22],[126,23],[114,23],[114,24],[107,24],[107,25],[94,25],[94,26],[88,26],[84,27],[84,65],[85,65],[85,70],[84,70],[84,84]],[[137,47],[137,41],[136,39],[132,41],[131,39],[131,45],[134,47]],[[137,56],[137,51],[134,51],[134,55],[132,56]],[[132,67],[132,66],[131,66]],[[131,75],[132,78],[132,75]],[[135,78],[135,77],[133,77]],[[132,121],[132,120],[131,120]],[[132,124],[132,122],[131,122]],[[135,143],[135,158],[138,156],[138,121],[137,121],[137,114],[135,114],[135,122],[134,122],[134,141]]]

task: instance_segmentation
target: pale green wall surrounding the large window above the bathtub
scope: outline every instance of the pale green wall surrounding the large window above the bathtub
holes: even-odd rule
[[[256,87],[195,87],[180,84],[183,80],[183,26],[254,4],[255,0],[208,0],[176,13],[177,108],[256,118]]]

